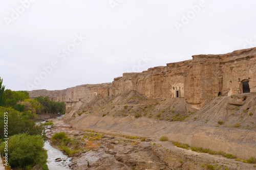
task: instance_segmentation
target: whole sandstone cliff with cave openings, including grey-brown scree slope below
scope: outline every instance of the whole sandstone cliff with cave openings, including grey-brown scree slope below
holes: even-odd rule
[[[250,48],[124,73],[113,83],[29,93],[66,102],[66,122],[75,129],[165,135],[248,159],[256,152],[255,70]]]

